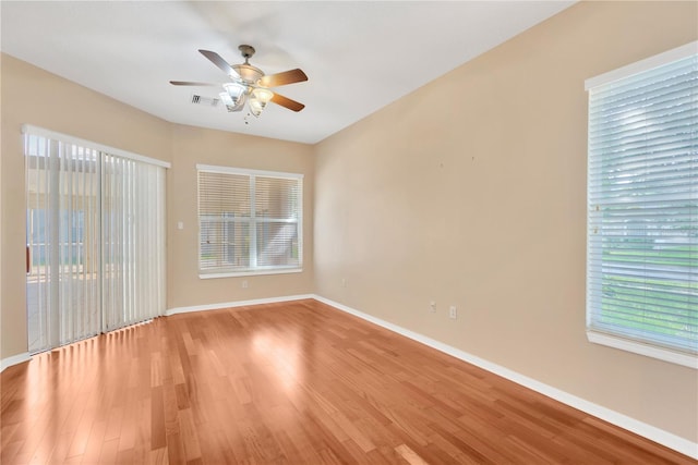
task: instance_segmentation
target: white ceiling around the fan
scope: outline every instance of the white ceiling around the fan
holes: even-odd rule
[[[0,47],[167,121],[313,144],[573,3],[5,0]],[[226,82],[197,49],[241,63],[240,44],[266,74],[308,74],[278,88],[304,110],[270,105],[245,125],[244,113],[191,103],[221,89],[169,84]]]

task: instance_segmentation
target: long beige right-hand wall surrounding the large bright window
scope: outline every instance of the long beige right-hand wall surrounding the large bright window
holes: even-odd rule
[[[586,340],[583,89],[697,37],[579,3],[318,144],[315,292],[698,441],[696,370]]]

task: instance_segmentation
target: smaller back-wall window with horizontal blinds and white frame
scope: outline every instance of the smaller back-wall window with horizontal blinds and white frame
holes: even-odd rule
[[[201,278],[302,271],[302,174],[196,169]]]

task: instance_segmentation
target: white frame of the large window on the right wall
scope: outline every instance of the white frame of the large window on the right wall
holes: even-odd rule
[[[639,73],[652,71],[659,66],[664,64],[670,64],[676,62],[678,60],[686,59],[691,56],[698,56],[698,41],[686,44],[682,47],[677,47],[675,49],[669,50],[666,52],[650,57],[646,60],[641,60],[629,65],[619,68],[617,70],[613,70],[609,73],[604,73],[602,75],[589,78],[585,82],[585,87],[587,91],[590,91],[593,88],[599,86],[603,86],[609,83],[613,83],[626,77],[630,77],[637,75]],[[591,99],[591,93],[589,95],[589,100]],[[588,109],[589,117],[590,107]],[[590,135],[590,133],[589,133]],[[643,356],[670,362],[673,364],[682,365],[685,367],[698,369],[698,354],[693,353],[690,351],[684,352],[681,350],[674,350],[671,347],[665,347],[653,343],[649,340],[641,340],[641,338],[630,339],[626,334],[622,334],[621,332],[613,333],[613,331],[604,328],[604,330],[600,330],[595,328],[591,323],[591,317],[593,309],[591,307],[591,297],[590,297],[590,282],[591,282],[591,242],[594,233],[592,230],[594,229],[594,224],[592,223],[592,204],[590,200],[590,192],[591,192],[591,183],[594,181],[592,179],[592,174],[590,171],[591,167],[591,144],[588,146],[588,178],[587,178],[587,305],[586,305],[586,319],[587,319],[587,339],[591,343],[602,344],[605,346],[631,352],[635,354],[640,354]],[[690,271],[693,273],[693,271]],[[628,331],[626,330],[626,333]]]

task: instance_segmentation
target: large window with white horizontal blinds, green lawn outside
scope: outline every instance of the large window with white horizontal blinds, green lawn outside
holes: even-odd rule
[[[698,42],[586,86],[588,338],[698,368]]]

